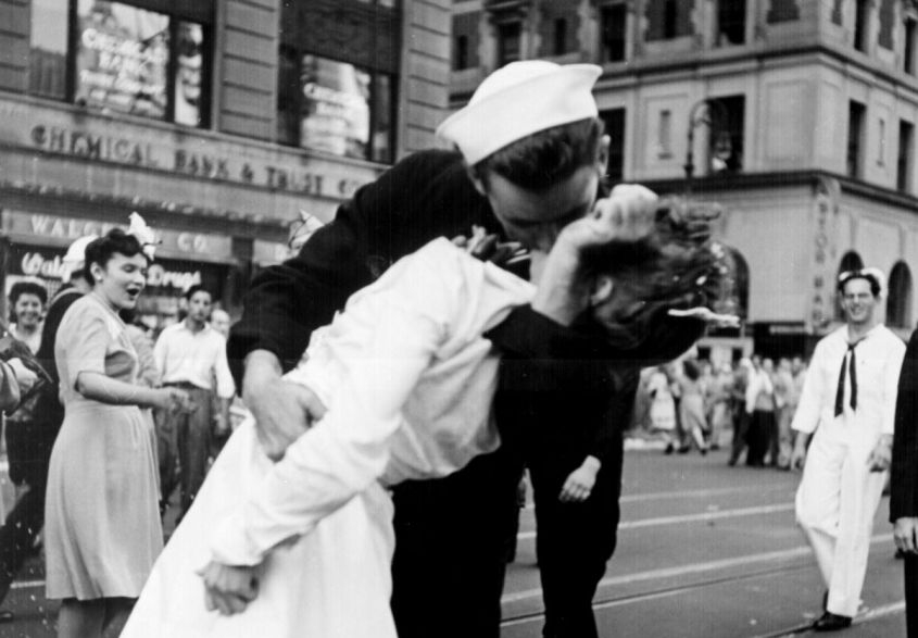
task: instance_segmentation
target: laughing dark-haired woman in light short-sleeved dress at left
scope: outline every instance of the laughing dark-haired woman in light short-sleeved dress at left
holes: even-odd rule
[[[186,409],[187,397],[137,383],[118,311],[133,309],[143,289],[142,249],[120,229],[87,247],[92,290],[67,310],[55,340],[65,416],[51,454],[45,547],[62,638],[116,631],[163,547],[156,461],[140,409]]]

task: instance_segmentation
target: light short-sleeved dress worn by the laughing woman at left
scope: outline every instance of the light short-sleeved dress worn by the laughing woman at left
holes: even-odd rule
[[[48,598],[136,598],[163,547],[150,425],[138,406],[87,399],[75,384],[80,372],[135,384],[137,353],[90,293],[64,314],[54,360],[65,416],[45,505]]]

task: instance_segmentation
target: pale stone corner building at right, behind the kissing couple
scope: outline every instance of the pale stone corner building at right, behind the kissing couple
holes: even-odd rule
[[[913,0],[455,0],[451,105],[515,59],[592,62],[609,177],[728,211],[741,333],[715,358],[808,352],[840,272],[889,276],[918,320],[918,4]],[[687,179],[687,164],[692,178]]]

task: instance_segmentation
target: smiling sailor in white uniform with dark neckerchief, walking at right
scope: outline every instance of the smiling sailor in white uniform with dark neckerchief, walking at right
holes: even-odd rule
[[[876,268],[840,275],[846,325],[816,345],[792,424],[798,434],[791,464],[806,461],[797,523],[828,590],[817,631],[848,627],[857,613],[873,514],[892,456],[905,343],[875,315],[881,282]]]

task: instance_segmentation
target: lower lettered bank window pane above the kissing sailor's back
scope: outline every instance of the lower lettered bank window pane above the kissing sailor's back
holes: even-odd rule
[[[278,140],[313,151],[392,161],[394,78],[281,47]]]

